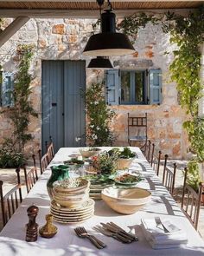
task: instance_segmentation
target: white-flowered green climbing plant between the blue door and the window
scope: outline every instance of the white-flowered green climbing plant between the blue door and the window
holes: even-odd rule
[[[115,140],[110,128],[115,113],[105,104],[104,87],[104,82],[92,83],[85,93],[88,117],[87,139],[92,147],[112,146]]]

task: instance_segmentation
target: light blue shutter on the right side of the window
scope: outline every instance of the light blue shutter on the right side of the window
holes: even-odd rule
[[[150,104],[161,104],[162,102],[162,70],[150,69]]]

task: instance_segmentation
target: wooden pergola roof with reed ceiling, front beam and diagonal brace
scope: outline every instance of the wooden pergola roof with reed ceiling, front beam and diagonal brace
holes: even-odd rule
[[[182,11],[194,9],[201,6],[204,1],[171,1],[171,0],[151,0],[151,1],[127,1],[127,0],[112,0],[114,13],[118,17],[130,15],[136,10],[140,11],[165,11],[176,10]],[[9,0],[0,1],[0,17],[15,18],[12,23],[0,33],[0,47],[6,43],[17,30],[19,30],[29,18],[96,18],[99,17],[99,5],[96,0],[80,0],[80,1],[54,1],[54,0],[39,0],[39,1],[22,1]]]

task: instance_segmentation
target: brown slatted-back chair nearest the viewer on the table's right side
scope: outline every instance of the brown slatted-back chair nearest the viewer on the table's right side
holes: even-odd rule
[[[182,211],[186,214],[195,230],[197,230],[201,207],[201,195],[204,184],[200,183],[198,191],[195,191],[194,188],[190,187],[187,183],[188,168],[185,168],[184,170],[185,176],[182,190]]]

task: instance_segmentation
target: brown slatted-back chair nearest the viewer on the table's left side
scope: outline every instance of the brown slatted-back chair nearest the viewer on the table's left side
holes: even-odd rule
[[[20,168],[16,169],[17,174],[17,185],[10,189],[10,191],[3,195],[3,181],[0,181],[0,197],[1,197],[1,208],[3,226],[10,220],[13,213],[15,213],[17,207],[22,202],[22,188],[20,180]]]

